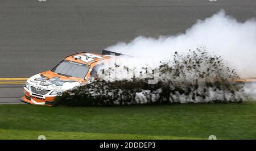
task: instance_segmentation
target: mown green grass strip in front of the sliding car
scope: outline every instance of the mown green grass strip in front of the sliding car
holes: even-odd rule
[[[256,139],[256,102],[115,107],[0,105],[0,139]]]

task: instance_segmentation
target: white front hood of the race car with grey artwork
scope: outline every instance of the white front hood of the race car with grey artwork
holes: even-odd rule
[[[58,76],[47,77],[43,74],[36,74],[27,80],[27,83],[36,87],[51,90],[68,90],[80,86],[81,82],[73,79],[63,79]]]

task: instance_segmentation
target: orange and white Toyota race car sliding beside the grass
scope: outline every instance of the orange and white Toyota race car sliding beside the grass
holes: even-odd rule
[[[89,77],[97,76],[97,69],[110,55],[121,53],[102,51],[96,53],[76,53],[65,57],[52,70],[28,78],[24,85],[24,96],[20,98],[29,104],[49,105],[54,103],[57,95],[86,83]]]

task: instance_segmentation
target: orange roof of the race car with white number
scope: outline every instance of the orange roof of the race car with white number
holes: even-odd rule
[[[91,65],[94,62],[108,60],[110,57],[97,53],[80,52],[64,58],[64,60],[73,61],[81,64]]]

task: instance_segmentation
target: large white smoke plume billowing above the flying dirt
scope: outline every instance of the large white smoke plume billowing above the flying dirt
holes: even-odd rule
[[[143,58],[172,57],[174,52],[204,46],[207,51],[228,61],[243,78],[256,77],[256,20],[238,22],[224,10],[197,22],[179,35],[138,36],[130,43],[119,42],[106,50]]]

